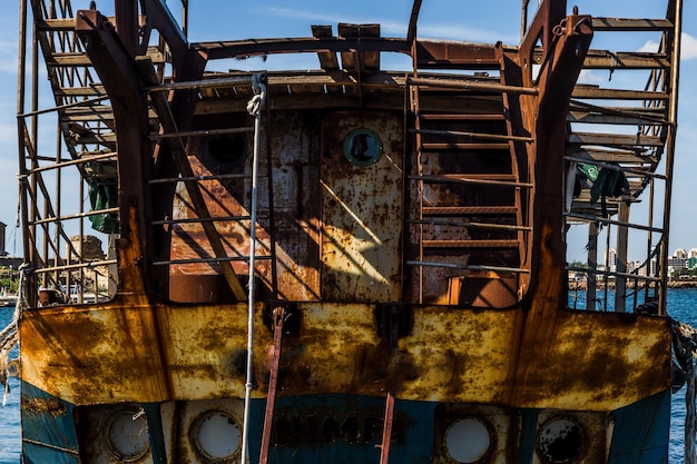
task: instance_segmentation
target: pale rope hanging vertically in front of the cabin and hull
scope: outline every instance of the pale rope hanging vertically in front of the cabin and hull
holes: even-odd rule
[[[254,155],[252,160],[252,205],[249,221],[249,284],[248,284],[248,320],[247,320],[247,382],[245,384],[245,411],[242,426],[242,464],[247,463],[249,457],[249,406],[252,403],[252,388],[254,387],[254,266],[256,255],[256,209],[258,198],[258,165],[259,140],[262,127],[262,108],[266,100],[266,86],[262,82],[263,75],[255,73],[252,77],[254,97],[247,103],[247,112],[254,116]]]

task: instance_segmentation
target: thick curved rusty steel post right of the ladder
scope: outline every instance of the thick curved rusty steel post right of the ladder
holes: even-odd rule
[[[519,315],[516,325],[520,329],[511,338],[511,346],[518,348],[509,364],[508,382],[511,385],[526,385],[540,354],[551,349],[560,309],[567,306],[566,223],[562,215],[566,115],[590,47],[592,28],[590,17],[580,16],[568,17],[565,26],[562,33],[556,38],[549,59],[540,69],[537,105],[522,100],[527,110],[523,121],[533,128],[537,138],[532,147],[536,179],[532,239],[536,246],[531,260],[531,275],[536,278],[523,296],[528,310]],[[507,398],[510,399],[512,396]]]

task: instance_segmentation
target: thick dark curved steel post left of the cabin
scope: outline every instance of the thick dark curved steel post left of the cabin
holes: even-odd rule
[[[118,179],[120,217],[127,218],[132,207],[138,210],[136,229],[131,229],[130,221],[120,221],[121,246],[127,247],[130,245],[126,244],[138,241],[140,250],[149,253],[155,247],[146,224],[146,218],[151,216],[145,191],[146,179],[151,177],[149,121],[146,96],[138,89],[137,69],[111,24],[98,11],[78,11],[76,33],[85,43],[86,53],[111,98],[118,162],[120,166],[128,166],[128,175],[120,172]],[[149,261],[151,259],[144,259],[138,264],[143,266],[144,275],[149,275]],[[144,284],[149,286],[151,282],[147,279]]]

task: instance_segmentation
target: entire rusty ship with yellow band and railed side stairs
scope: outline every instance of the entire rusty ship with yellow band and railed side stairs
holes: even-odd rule
[[[23,463],[668,462],[681,0],[514,45],[82,3],[20,1]]]

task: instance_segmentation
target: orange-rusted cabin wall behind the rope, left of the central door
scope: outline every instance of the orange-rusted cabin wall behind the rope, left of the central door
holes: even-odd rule
[[[273,115],[268,127],[291,128],[271,137],[272,166],[266,156],[266,131],[262,134],[258,180],[258,221],[256,225],[256,256],[272,256],[272,233],[275,234],[275,254],[278,293],[291,300],[316,300],[320,297],[320,221],[318,221],[318,140],[313,140],[314,116],[298,111]],[[244,121],[230,122],[244,126]],[[316,135],[315,135],[316,139]],[[226,152],[216,159],[212,139],[190,142],[189,157],[196,176],[206,177],[200,188],[210,211],[218,218],[216,229],[223,237],[227,256],[239,259],[233,267],[239,276],[248,274],[246,260],[251,254],[249,211],[253,151],[252,137],[239,138],[239,154]],[[223,140],[223,144],[226,141]],[[228,141],[229,146],[233,146]],[[228,146],[225,146],[228,148]],[[269,194],[268,172],[273,180]],[[218,178],[216,178],[218,176]],[[226,177],[228,176],[228,177]],[[269,201],[273,195],[274,225],[269,221]],[[174,199],[173,260],[210,259],[214,254],[200,224],[190,207],[184,185],[178,186]],[[257,259],[256,274],[263,289],[272,290],[273,268],[268,259]],[[244,277],[243,277],[244,278]],[[223,285],[220,285],[223,283]],[[170,266],[170,296],[181,303],[230,302],[225,292],[220,269],[212,263],[190,263]]]

